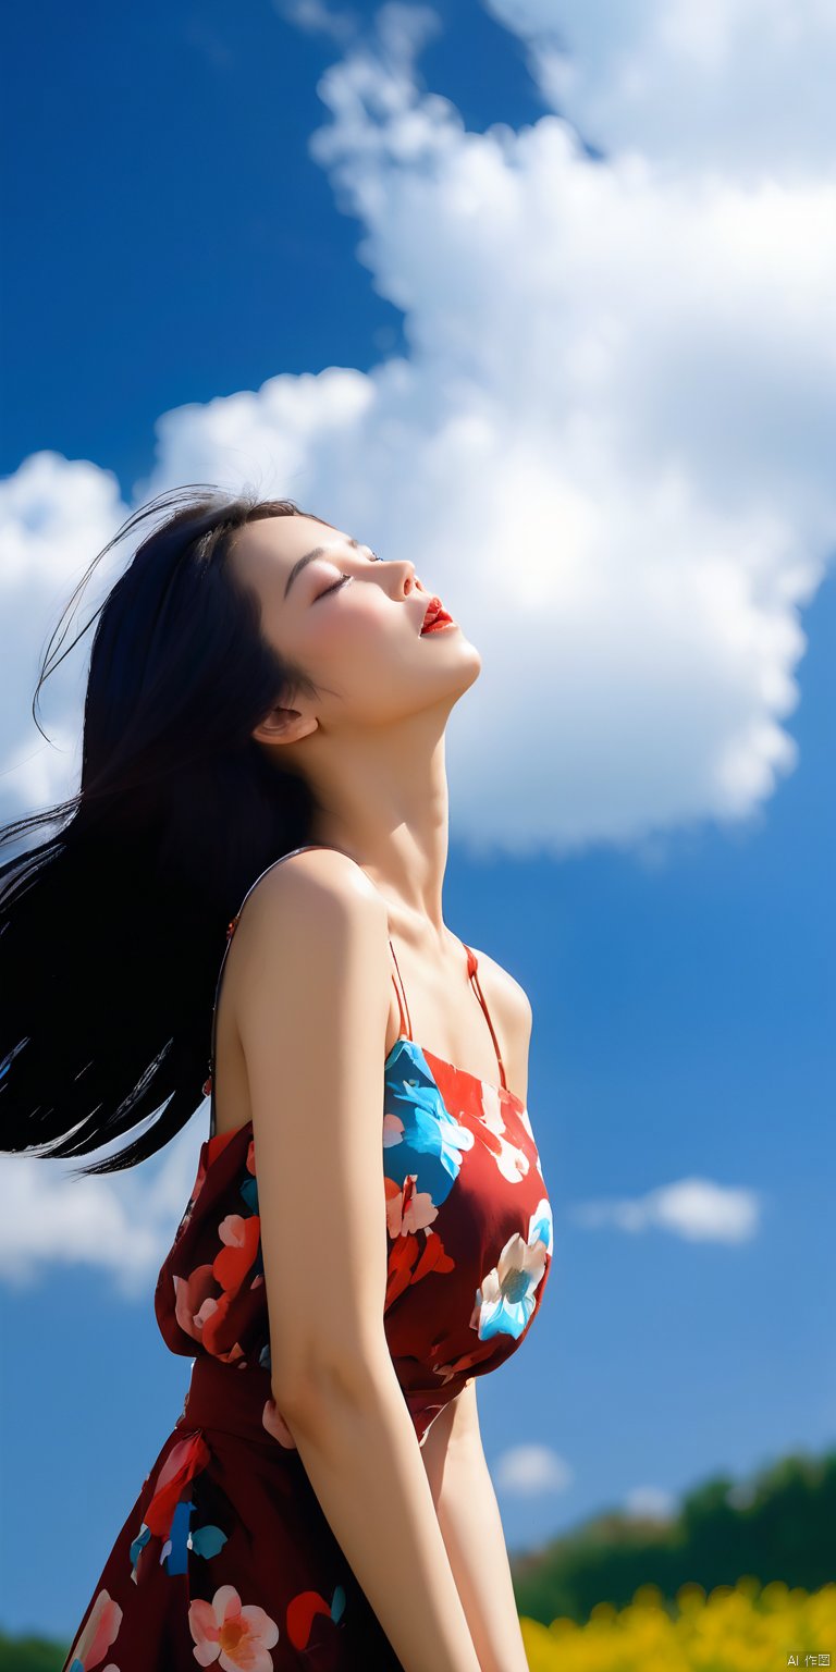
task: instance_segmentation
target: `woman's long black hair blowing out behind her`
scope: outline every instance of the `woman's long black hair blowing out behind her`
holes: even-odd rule
[[[314,513],[207,483],[157,495],[99,552],[52,634],[35,724],[67,610],[140,528],[87,622],[99,615],[80,788],[0,828],[0,844],[18,848],[50,829],[0,866],[3,1154],[85,1155],[150,1120],[75,1169],[117,1172],[162,1149],[202,1100],[227,923],[256,876],[309,839],[316,813],[306,779],[251,736],[274,704],[316,687],[264,639],[259,599],[229,563],[237,530],[289,515]]]

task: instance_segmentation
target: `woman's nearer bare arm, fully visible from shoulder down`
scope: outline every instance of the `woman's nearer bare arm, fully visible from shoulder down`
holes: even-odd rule
[[[405,1672],[480,1672],[385,1336],[386,906],[344,854],[252,891],[229,956],[278,1411]]]

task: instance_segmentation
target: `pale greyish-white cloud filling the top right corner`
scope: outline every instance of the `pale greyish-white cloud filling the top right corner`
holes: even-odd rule
[[[804,181],[836,157],[831,0],[485,0],[584,139],[674,169]]]

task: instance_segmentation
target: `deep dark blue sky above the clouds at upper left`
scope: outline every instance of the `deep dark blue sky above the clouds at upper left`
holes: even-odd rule
[[[401,344],[308,155],[321,37],[266,0],[236,5],[234,27],[217,0],[75,15],[45,0],[7,18],[7,54],[32,69],[2,119],[22,164],[5,179],[20,256],[3,273],[3,472],[55,446],[130,492],[161,411]],[[445,13],[423,69],[468,127],[542,114],[480,7]]]

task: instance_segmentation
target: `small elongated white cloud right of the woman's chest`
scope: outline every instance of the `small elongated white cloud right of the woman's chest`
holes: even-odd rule
[[[579,1202],[568,1217],[587,1231],[669,1231],[686,1242],[751,1242],[761,1219],[757,1190],[679,1179],[637,1197]]]

